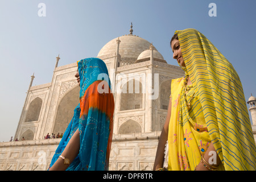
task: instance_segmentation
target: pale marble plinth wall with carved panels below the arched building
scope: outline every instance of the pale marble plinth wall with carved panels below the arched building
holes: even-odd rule
[[[152,170],[160,132],[113,136],[110,171]],[[61,139],[0,143],[0,171],[45,171]]]

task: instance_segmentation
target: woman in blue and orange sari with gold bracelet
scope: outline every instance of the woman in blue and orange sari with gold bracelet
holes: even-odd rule
[[[53,155],[49,171],[108,170],[114,98],[104,61],[77,61],[80,104]]]

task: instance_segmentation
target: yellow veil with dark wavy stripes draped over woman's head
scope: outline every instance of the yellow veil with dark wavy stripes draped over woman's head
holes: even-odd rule
[[[222,164],[226,170],[255,170],[255,140],[237,72],[199,31],[189,28],[175,34]]]

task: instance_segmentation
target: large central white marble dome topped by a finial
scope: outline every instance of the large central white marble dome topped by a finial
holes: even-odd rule
[[[118,38],[115,38],[106,43],[105,46],[101,48],[100,52],[98,52],[97,57],[115,54],[117,51],[117,39]],[[121,59],[122,57],[137,59],[138,56],[150,46],[150,42],[136,35],[120,36],[119,40],[121,40],[119,43],[119,55],[121,55]],[[157,51],[156,48],[154,49]]]

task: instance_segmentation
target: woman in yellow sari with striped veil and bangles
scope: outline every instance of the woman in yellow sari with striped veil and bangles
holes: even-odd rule
[[[255,140],[232,64],[195,29],[176,31],[171,48],[185,76],[171,83],[154,170],[164,163],[168,170],[255,170]]]

